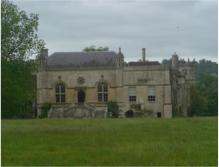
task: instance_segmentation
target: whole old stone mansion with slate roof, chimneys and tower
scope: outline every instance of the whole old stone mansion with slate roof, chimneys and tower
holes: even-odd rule
[[[170,65],[148,61],[145,48],[136,62],[125,62],[121,49],[50,56],[43,49],[36,79],[38,115],[50,103],[49,117],[105,117],[107,102],[113,101],[121,113],[138,104],[152,117],[170,118],[189,112],[195,77],[192,63],[180,62],[176,54]]]

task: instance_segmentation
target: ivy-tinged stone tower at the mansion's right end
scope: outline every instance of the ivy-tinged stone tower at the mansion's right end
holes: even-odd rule
[[[170,72],[173,115],[187,116],[190,111],[190,87],[195,80],[194,67],[189,62],[180,62],[174,53]]]

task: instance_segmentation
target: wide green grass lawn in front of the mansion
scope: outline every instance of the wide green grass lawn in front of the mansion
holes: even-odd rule
[[[217,118],[2,120],[2,165],[217,165]]]

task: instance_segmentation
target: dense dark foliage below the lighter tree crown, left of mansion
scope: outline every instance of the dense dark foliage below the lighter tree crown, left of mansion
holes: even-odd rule
[[[7,62],[2,60],[2,117],[33,117],[34,62]]]

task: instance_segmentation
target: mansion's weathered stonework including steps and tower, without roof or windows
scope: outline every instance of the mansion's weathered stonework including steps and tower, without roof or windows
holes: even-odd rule
[[[46,57],[42,59],[45,63]],[[73,59],[74,57],[71,58]],[[106,117],[107,104],[98,101],[98,83],[104,82],[107,84],[108,101],[117,102],[119,109],[124,112],[130,109],[132,103],[129,101],[129,89],[134,87],[135,103],[140,104],[141,109],[152,111],[151,116],[156,117],[158,113],[161,113],[162,117],[169,118],[172,117],[173,112],[187,114],[190,107],[190,86],[195,80],[194,67],[191,63],[180,63],[176,54],[173,55],[172,66],[161,65],[158,62],[150,63],[148,60],[132,65],[124,63],[123,59],[124,56],[120,52],[113,59],[114,66],[113,64],[107,67],[104,65],[95,67],[88,64],[85,66],[85,63],[84,66],[77,68],[48,67],[39,71],[37,73],[39,113],[40,106],[44,103],[51,103],[52,107],[57,106],[56,85],[63,83],[65,103],[58,104],[63,111],[50,113],[48,117],[93,118],[102,117],[102,113],[105,114],[103,117]],[[104,59],[102,60],[104,62]],[[78,82],[81,78],[83,82]],[[148,100],[151,88],[155,90],[153,102]],[[78,105],[80,91],[84,92],[85,97],[82,103],[85,109]]]

